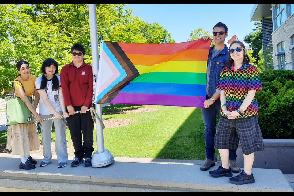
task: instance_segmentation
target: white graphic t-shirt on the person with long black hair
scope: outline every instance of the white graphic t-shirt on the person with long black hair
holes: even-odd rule
[[[59,86],[58,88],[61,86],[60,85],[60,76],[58,74],[56,74],[58,80],[59,80]],[[42,81],[42,75],[39,76],[36,79],[35,85],[36,85],[36,89],[40,90],[41,89],[41,81]],[[53,105],[53,107],[55,108],[56,111],[62,111],[61,109],[61,105],[59,102],[59,94],[58,94],[58,89],[54,89],[52,90],[52,79],[47,80],[47,86],[45,86],[45,91],[47,93],[48,99],[50,101],[50,103]],[[48,114],[53,114],[48,107],[45,105],[45,102],[43,101],[42,97],[40,96],[40,101],[39,101],[39,114],[43,114],[43,115],[48,115]]]

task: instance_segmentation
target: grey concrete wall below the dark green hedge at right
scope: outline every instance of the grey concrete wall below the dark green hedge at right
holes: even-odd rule
[[[279,169],[283,174],[294,174],[294,139],[263,139],[264,151],[255,152],[253,168]],[[239,142],[237,162],[244,167]]]

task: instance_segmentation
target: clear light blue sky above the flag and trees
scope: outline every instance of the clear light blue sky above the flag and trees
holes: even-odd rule
[[[176,43],[186,42],[190,33],[198,28],[212,33],[212,28],[218,22],[228,27],[227,41],[236,34],[239,41],[256,28],[250,21],[254,4],[132,4],[124,9],[133,9],[133,17],[138,16],[151,24],[157,22],[163,26]],[[212,37],[211,37],[212,38]]]

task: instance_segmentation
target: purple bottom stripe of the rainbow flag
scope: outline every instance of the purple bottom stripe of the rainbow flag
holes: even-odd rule
[[[166,105],[182,107],[204,107],[206,96],[180,96],[142,93],[119,93],[112,104]]]

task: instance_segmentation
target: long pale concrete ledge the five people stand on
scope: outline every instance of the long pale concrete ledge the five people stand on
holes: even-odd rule
[[[40,155],[31,156],[38,163],[43,158]],[[153,163],[150,159],[145,159],[146,162],[128,162],[129,159],[115,157],[114,163],[104,167],[80,165],[73,168],[70,167],[73,158],[70,156],[66,167],[58,168],[58,162],[53,157],[52,163],[45,167],[36,165],[36,169],[21,170],[18,168],[18,155],[0,153],[0,157],[1,191],[293,192],[282,172],[274,169],[253,168],[255,183],[234,185],[228,177],[211,177],[208,171],[201,171],[200,166],[193,163],[197,161],[189,160],[176,164],[159,160],[153,160]],[[219,165],[210,170],[217,169]]]

